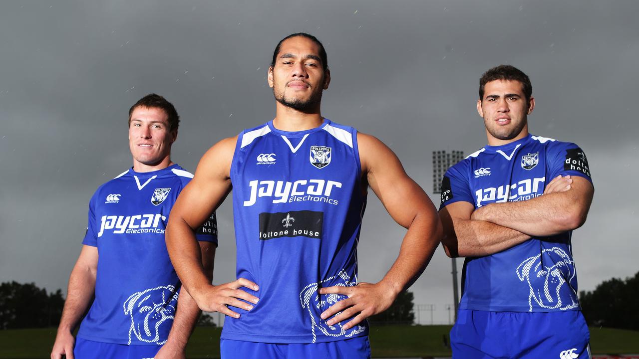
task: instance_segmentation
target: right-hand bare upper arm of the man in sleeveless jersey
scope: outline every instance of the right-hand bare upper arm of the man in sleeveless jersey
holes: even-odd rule
[[[408,228],[417,213],[429,213],[436,220],[433,202],[406,174],[395,153],[373,136],[357,136],[362,172],[397,224]]]

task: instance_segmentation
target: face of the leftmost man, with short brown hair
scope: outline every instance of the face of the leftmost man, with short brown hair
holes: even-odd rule
[[[134,167],[153,167],[168,159],[177,131],[169,130],[166,112],[157,107],[135,107],[128,126],[128,146]]]

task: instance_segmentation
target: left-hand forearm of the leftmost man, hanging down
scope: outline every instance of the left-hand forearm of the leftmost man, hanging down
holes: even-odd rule
[[[58,330],[73,332],[88,309],[95,293],[95,271],[75,266],[69,277],[65,307]]]

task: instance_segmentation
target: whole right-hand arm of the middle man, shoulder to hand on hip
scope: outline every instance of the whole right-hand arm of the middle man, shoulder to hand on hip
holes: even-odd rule
[[[357,142],[364,179],[390,216],[408,231],[399,256],[380,282],[319,289],[321,294],[348,296],[321,314],[322,319],[327,319],[341,312],[328,320],[328,325],[353,317],[343,326],[344,330],[388,309],[397,295],[410,287],[426,269],[442,236],[442,225],[433,202],[404,172],[397,156],[373,136],[357,134]]]

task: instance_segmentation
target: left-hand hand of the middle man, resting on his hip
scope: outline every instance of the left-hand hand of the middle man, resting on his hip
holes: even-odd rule
[[[197,306],[201,310],[204,310],[204,312],[220,312],[227,316],[239,318],[240,314],[228,309],[227,305],[251,310],[253,306],[249,303],[242,302],[240,299],[254,304],[257,304],[259,300],[258,297],[240,290],[240,287],[246,287],[253,291],[259,289],[257,284],[248,279],[240,278],[230,283],[220,284],[219,286],[208,286],[196,293],[193,299],[196,301]]]

